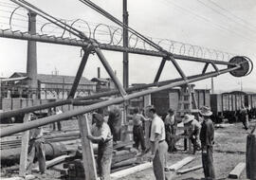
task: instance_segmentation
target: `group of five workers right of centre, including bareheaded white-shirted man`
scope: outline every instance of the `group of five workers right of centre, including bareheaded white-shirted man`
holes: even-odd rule
[[[146,113],[151,121],[150,128],[150,146],[151,155],[150,160],[153,160],[153,169],[156,180],[165,179],[166,168],[166,155],[167,152],[174,152],[176,148],[174,146],[176,138],[176,125],[177,120],[174,115],[174,110],[170,109],[168,115],[164,120],[156,114],[155,108],[151,107]],[[213,144],[214,144],[214,127],[210,119],[212,112],[209,107],[202,107],[200,109],[200,115],[203,119],[202,123],[195,119],[192,115],[185,115],[182,118],[182,122],[185,127],[185,135],[188,135],[193,145],[193,153],[201,150],[202,152],[202,164],[206,179],[214,179],[215,172],[213,167]],[[138,143],[140,142],[142,153],[145,152],[145,139],[142,128],[142,121],[147,120],[137,109],[134,115],[134,141],[135,147],[138,149]]]

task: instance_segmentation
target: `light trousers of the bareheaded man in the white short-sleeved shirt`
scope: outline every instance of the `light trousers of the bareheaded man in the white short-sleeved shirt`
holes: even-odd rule
[[[168,145],[165,140],[159,142],[158,148],[153,159],[153,170],[156,180],[165,180],[164,168],[166,167],[166,155]]]

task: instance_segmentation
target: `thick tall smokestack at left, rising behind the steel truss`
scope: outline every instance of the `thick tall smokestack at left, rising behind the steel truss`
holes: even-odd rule
[[[36,34],[36,13],[28,12],[28,32]],[[36,42],[27,42],[27,77],[29,78],[27,85],[32,90],[33,99],[36,99],[37,84],[37,53]]]

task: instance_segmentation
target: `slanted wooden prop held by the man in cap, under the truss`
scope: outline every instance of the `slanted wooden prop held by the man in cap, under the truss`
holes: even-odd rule
[[[93,153],[92,142],[87,138],[90,135],[90,128],[86,115],[78,116],[79,128],[82,142],[82,162],[85,179],[97,180],[96,164]]]

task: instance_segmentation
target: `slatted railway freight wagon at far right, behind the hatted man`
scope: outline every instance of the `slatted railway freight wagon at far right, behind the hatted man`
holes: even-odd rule
[[[210,95],[210,107],[213,112],[213,120],[221,122],[228,118],[229,122],[238,121],[239,111],[245,105],[249,108],[250,117],[254,117],[256,109],[256,94],[247,94],[242,91],[233,91],[223,94]]]

